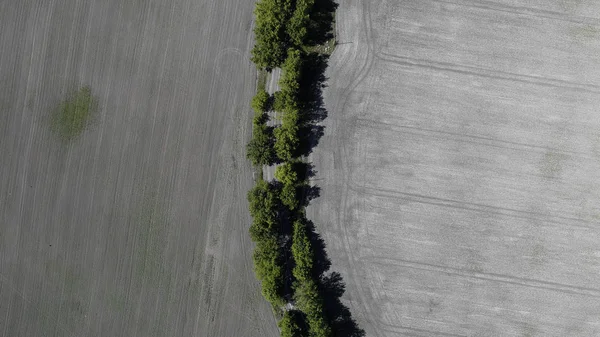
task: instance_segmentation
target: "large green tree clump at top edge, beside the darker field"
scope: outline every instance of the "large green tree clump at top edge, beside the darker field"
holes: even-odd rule
[[[289,44],[285,26],[292,15],[292,0],[260,0],[254,15],[256,44],[251,52],[252,62],[259,69],[276,68],[285,59]]]

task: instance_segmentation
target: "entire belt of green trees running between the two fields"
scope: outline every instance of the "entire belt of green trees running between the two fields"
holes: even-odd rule
[[[314,0],[259,0],[255,8],[256,44],[252,61],[261,70],[281,67],[280,90],[271,97],[259,90],[249,160],[262,170],[277,163],[274,181],[259,179],[248,193],[253,217],[250,236],[256,243],[254,269],[264,297],[277,308],[283,337],[332,336],[315,270],[312,229],[305,217],[307,165],[300,155],[300,130],[306,107],[301,103],[305,42]],[[304,85],[304,84],[303,84]],[[277,111],[281,125],[267,125]]]

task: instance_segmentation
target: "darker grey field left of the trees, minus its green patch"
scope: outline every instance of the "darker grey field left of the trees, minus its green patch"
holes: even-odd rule
[[[252,272],[253,1],[0,1],[0,336],[277,336]],[[65,145],[49,113],[89,85]]]

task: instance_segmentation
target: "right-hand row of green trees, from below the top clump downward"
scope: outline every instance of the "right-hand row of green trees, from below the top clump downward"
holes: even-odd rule
[[[307,187],[306,165],[299,158],[299,130],[304,120],[304,107],[300,100],[300,81],[304,54],[290,48],[282,65],[279,81],[280,91],[275,93],[274,109],[281,116],[281,126],[274,131],[275,151],[281,163],[275,171],[275,179],[281,185],[279,198],[287,209],[286,221],[292,224],[292,288],[293,305],[299,312],[288,314],[280,324],[282,335],[327,337],[332,335],[326,318],[324,301],[319,290],[319,275],[314,272],[315,255],[309,237],[309,228],[302,207],[303,191]],[[301,327],[308,329],[302,330]]]

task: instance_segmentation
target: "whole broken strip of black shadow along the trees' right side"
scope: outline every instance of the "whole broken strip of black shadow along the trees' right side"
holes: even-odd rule
[[[311,24],[308,29],[309,46],[327,46],[334,41],[334,20],[335,11],[338,4],[333,0],[317,1],[310,14]],[[313,49],[305,55],[302,66],[302,76],[300,78],[300,104],[303,111],[301,117],[300,152],[306,156],[310,154],[319,140],[323,137],[324,127],[319,123],[327,118],[327,109],[323,100],[323,90],[326,88],[327,77],[325,71],[331,52],[325,49],[325,52],[316,52],[319,48]],[[305,177],[299,177],[303,181],[314,177],[316,172],[312,164],[305,164]],[[302,172],[304,170],[298,170]],[[303,185],[301,195],[302,206],[308,204],[320,195],[318,186]],[[327,256],[325,242],[315,230],[312,221],[304,218],[306,228],[308,229],[309,240],[314,253],[313,279],[317,282],[320,295],[323,299],[324,312],[326,319],[331,324],[333,336],[337,337],[363,337],[365,336],[352,314],[340,300],[346,290],[346,285],[342,276],[338,272],[330,271],[331,260]],[[293,266],[290,266],[293,268]],[[290,269],[291,270],[291,269]],[[305,322],[302,313],[295,315],[300,322]],[[301,324],[300,324],[301,326]]]

